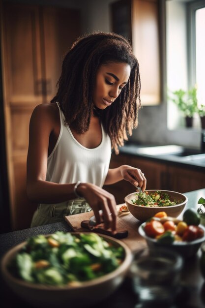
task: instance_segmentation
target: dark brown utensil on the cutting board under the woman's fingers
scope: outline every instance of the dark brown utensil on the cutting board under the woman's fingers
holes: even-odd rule
[[[103,223],[99,224],[97,227],[90,226],[90,220],[81,221],[81,227],[90,230],[91,232],[101,233],[109,235],[116,239],[124,239],[128,236],[127,230],[118,230],[117,233],[113,234],[111,230],[106,230],[103,228]]]

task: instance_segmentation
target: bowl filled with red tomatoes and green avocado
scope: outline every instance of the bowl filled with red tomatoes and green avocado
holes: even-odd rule
[[[182,220],[158,212],[142,223],[138,231],[150,248],[171,248],[184,258],[195,255],[205,241],[205,227],[193,209],[186,210]]]

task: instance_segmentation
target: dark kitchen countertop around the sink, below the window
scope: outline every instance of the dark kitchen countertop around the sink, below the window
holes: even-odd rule
[[[184,166],[194,170],[205,171],[205,154],[198,154],[203,156],[203,159],[200,159],[199,156],[199,159],[195,159],[192,161],[191,159],[188,159],[187,156],[177,156],[172,154],[160,154],[160,155],[143,154],[141,152],[141,149],[146,147],[149,146],[127,143],[119,149],[119,153],[134,155],[149,160],[155,160],[158,162],[165,162],[165,163],[167,162],[169,163],[169,165],[178,165],[180,167]]]

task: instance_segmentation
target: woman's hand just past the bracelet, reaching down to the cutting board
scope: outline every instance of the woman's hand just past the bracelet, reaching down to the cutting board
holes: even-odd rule
[[[114,195],[99,186],[90,183],[81,183],[78,185],[76,192],[80,196],[84,197],[92,208],[96,223],[101,223],[99,211],[102,210],[105,229],[111,228],[115,233],[117,224],[117,210]]]

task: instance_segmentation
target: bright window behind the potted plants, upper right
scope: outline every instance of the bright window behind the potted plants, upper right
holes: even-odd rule
[[[197,87],[198,106],[205,105],[205,0],[166,1],[168,93]],[[172,95],[168,96],[171,97]],[[185,126],[185,115],[168,99],[168,128]],[[201,128],[194,114],[194,128]]]

